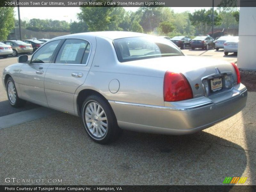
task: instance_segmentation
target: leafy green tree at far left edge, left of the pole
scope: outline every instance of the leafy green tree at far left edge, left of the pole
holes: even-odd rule
[[[14,8],[0,7],[0,18],[0,41],[4,41],[14,28]]]

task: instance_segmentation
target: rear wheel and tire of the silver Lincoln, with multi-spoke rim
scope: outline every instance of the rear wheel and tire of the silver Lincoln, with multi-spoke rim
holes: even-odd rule
[[[109,103],[98,95],[89,96],[84,101],[82,120],[88,136],[100,144],[115,141],[122,132]]]

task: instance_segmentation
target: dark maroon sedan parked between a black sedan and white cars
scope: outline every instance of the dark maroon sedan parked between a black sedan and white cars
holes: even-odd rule
[[[214,39],[210,36],[197,36],[190,41],[191,48],[194,50],[195,48],[202,49],[214,49],[215,44],[213,43]]]

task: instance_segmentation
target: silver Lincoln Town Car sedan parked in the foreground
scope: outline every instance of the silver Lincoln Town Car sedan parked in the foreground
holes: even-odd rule
[[[172,42],[133,32],[56,37],[3,72],[13,107],[25,100],[81,116],[98,143],[122,129],[188,134],[245,107],[235,64],[184,56]]]

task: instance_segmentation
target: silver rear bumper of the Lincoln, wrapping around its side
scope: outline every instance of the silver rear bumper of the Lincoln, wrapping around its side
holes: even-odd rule
[[[240,86],[241,87],[241,86]],[[247,89],[229,92],[231,99],[200,105],[172,108],[119,101],[109,101],[122,129],[159,134],[182,135],[206,129],[241,111],[247,100]]]

